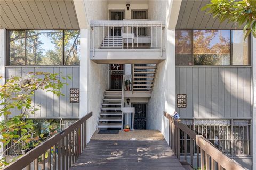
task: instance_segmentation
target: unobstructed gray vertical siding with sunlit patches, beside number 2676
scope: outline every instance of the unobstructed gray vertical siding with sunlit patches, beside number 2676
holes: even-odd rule
[[[182,118],[251,118],[251,67],[176,67],[177,94],[187,94]]]

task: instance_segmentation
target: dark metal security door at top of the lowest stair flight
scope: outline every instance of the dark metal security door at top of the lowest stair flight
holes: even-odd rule
[[[110,64],[110,90],[122,90],[124,64]]]

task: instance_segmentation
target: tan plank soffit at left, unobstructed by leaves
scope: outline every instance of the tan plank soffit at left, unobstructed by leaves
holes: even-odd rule
[[[79,29],[73,0],[0,0],[0,29]]]

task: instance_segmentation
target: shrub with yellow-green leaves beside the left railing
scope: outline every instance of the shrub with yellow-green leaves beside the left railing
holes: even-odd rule
[[[34,129],[35,124],[27,118],[29,114],[35,114],[38,110],[32,104],[32,97],[36,90],[46,90],[60,96],[63,95],[60,89],[64,84],[60,81],[58,73],[30,72],[23,77],[11,77],[3,86],[0,86],[0,116],[4,117],[0,122],[0,141],[3,146],[9,144],[4,152],[20,143],[23,143],[22,149],[32,149],[50,135],[57,133],[51,132],[46,137],[44,134],[38,135]],[[14,109],[19,112],[17,116],[11,116],[11,111]],[[0,160],[0,167],[1,165],[5,165],[4,160]]]

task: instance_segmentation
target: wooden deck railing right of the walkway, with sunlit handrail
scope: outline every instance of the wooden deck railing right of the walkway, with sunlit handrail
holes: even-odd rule
[[[194,165],[194,148],[196,148],[197,167],[200,169],[212,170],[243,170],[238,163],[223,154],[210,141],[205,139],[202,135],[197,135],[193,130],[188,128],[185,124],[175,120],[170,114],[164,112],[164,116],[169,120],[169,145],[174,151],[174,154],[180,159],[181,140],[180,135],[183,136],[184,145],[184,159],[189,165]],[[189,153],[187,146],[189,141]],[[200,153],[200,154],[199,154]],[[187,160],[188,155],[190,160]],[[199,158],[200,157],[200,158]],[[199,166],[200,165],[200,166]],[[194,166],[193,166],[194,167]]]

